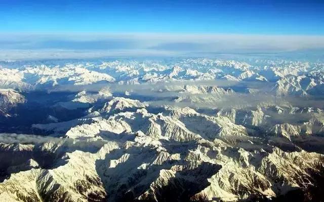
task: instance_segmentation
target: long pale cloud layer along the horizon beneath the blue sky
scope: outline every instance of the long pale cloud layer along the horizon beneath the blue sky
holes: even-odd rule
[[[324,36],[302,35],[2,33],[0,37],[0,59],[195,56],[204,53],[279,53],[324,49]]]

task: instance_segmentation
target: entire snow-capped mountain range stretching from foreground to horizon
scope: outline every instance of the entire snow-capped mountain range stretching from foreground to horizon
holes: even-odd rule
[[[322,200],[321,63],[30,64],[0,69],[0,201]]]

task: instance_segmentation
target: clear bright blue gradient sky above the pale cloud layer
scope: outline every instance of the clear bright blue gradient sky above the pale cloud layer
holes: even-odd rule
[[[0,32],[324,35],[324,1],[0,0]]]

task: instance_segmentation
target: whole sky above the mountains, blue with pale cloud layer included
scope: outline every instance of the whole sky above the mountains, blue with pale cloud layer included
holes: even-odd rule
[[[318,49],[323,11],[322,0],[0,0],[0,56],[13,49],[126,55]]]

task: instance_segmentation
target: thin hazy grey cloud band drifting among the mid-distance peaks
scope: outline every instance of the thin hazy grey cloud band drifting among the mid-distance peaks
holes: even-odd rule
[[[223,88],[240,89],[234,94],[219,95],[214,93],[190,94],[180,92],[184,85],[209,85]],[[131,92],[131,98],[139,99],[142,102],[148,102],[151,107],[177,106],[192,108],[223,108],[223,109],[241,109],[246,107],[256,107],[263,103],[280,105],[284,103],[283,98],[276,97],[271,91],[273,83],[253,82],[253,81],[172,81],[169,83],[143,83],[136,85],[118,85],[118,84],[91,84],[83,86],[58,85],[50,88],[50,91],[70,91],[79,92],[99,91],[103,87],[109,87],[113,96],[125,96],[125,92]],[[258,88],[260,93],[245,93],[247,88]],[[179,98],[179,102],[176,99]]]

